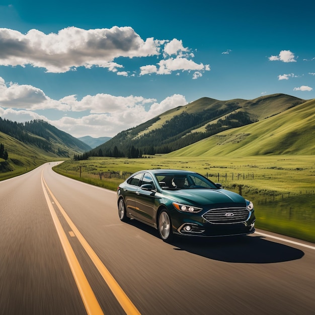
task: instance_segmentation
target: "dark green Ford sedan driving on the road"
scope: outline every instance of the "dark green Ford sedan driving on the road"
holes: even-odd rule
[[[119,185],[117,198],[121,221],[133,218],[153,226],[164,241],[174,234],[217,237],[255,232],[253,203],[195,172],[140,171]]]

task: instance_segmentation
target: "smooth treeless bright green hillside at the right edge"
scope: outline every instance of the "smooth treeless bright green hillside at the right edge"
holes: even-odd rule
[[[315,154],[315,100],[276,116],[233,128],[179,149],[169,156]]]

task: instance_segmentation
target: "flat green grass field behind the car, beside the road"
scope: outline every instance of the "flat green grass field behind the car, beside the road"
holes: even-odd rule
[[[54,170],[116,190],[132,173],[145,169],[198,172],[253,201],[256,226],[315,243],[315,156],[170,157],[143,159],[92,157],[66,161]]]

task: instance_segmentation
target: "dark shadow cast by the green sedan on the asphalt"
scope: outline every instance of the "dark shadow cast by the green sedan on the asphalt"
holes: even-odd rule
[[[159,232],[153,227],[136,220],[131,220],[129,224],[160,238]],[[304,252],[299,249],[255,234],[218,238],[176,237],[170,245],[174,246],[175,251],[186,251],[229,263],[269,264],[292,261],[304,256]]]

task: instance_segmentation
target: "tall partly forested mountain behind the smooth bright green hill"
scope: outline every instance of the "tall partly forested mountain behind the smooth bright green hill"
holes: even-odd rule
[[[224,130],[265,120],[304,102],[285,94],[228,101],[204,97],[120,132],[88,155],[138,157],[169,153]]]

